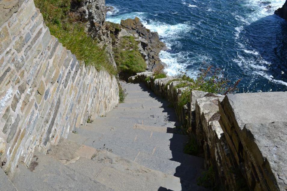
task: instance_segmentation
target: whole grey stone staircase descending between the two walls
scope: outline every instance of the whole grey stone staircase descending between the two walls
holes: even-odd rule
[[[122,86],[125,103],[35,153],[11,181],[1,171],[5,190],[206,190],[196,185],[203,159],[183,153],[174,109],[144,84]]]

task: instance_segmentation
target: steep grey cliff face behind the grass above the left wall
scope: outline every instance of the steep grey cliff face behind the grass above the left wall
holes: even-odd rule
[[[113,56],[112,39],[109,27],[106,25],[106,5],[105,0],[74,0],[71,9],[79,19],[86,23],[86,32],[99,41],[101,47],[106,47],[110,62],[116,67]]]

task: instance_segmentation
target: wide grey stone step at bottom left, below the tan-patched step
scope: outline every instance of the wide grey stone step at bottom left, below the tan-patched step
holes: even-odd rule
[[[19,191],[112,190],[96,180],[91,180],[84,173],[76,173],[73,169],[42,153],[35,153],[29,169],[23,165],[18,167],[12,182]]]

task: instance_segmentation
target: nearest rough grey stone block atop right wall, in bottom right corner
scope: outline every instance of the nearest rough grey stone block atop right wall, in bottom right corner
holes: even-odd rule
[[[242,129],[242,144],[268,190],[287,188],[286,129],[287,122],[246,123]]]

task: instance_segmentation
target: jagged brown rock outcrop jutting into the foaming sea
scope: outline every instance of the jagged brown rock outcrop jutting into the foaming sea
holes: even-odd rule
[[[136,41],[140,42],[140,52],[146,59],[148,71],[153,71],[158,65],[164,65],[159,59],[159,52],[166,50],[167,47],[159,40],[157,32],[146,29],[138,17],[122,20],[121,26],[122,31],[119,33],[119,38],[133,35]]]

